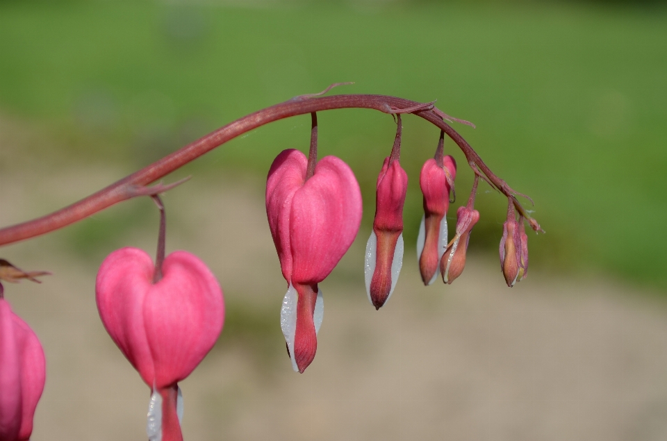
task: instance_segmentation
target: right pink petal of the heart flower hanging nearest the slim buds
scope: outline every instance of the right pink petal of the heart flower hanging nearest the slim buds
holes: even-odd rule
[[[292,199],[295,287],[319,283],[331,273],[359,231],[361,211],[361,191],[352,170],[339,158],[322,158]]]

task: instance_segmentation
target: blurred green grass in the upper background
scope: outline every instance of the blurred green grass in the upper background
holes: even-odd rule
[[[142,167],[338,81],[356,81],[338,93],[438,99],[477,124],[455,128],[536,201],[547,235],[531,237],[532,267],[603,269],[667,288],[667,8],[659,4],[0,2],[0,41],[0,108],[47,126],[63,160]],[[393,121],[369,110],[319,119],[322,156],[342,157],[359,178],[368,229]],[[265,126],[183,173],[264,176],[281,149],[307,148],[308,124],[304,116]],[[409,243],[421,216],[419,169],[437,138],[404,119]],[[447,149],[459,160],[456,208],[471,176],[454,144]],[[497,249],[505,203],[483,188],[479,207],[471,246]],[[81,236],[73,247],[89,253],[105,225],[72,227]]]

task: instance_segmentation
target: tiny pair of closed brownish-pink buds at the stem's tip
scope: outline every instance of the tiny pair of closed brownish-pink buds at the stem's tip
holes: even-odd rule
[[[528,273],[528,236],[524,218],[519,216],[517,222],[511,199],[507,210],[507,221],[502,225],[500,269],[509,287],[522,281]]]

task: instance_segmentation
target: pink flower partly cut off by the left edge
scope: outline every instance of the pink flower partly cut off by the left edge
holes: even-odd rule
[[[45,373],[40,340],[0,291],[0,441],[30,438]]]

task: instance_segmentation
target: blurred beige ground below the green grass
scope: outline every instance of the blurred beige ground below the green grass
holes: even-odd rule
[[[3,166],[0,225],[47,213],[130,171],[42,160]],[[165,197],[167,251],[204,259],[228,306],[219,344],[181,383],[186,440],[667,439],[664,300],[536,272],[509,289],[495,255],[470,261],[451,287],[425,288],[408,247],[397,289],[376,312],[363,287],[370,217],[320,285],[318,354],[295,374],[279,326],[286,284],[262,185],[195,176]],[[151,201],[124,209],[142,203]],[[124,244],[154,253],[154,219],[140,230],[128,226]],[[54,273],[42,285],[6,286],[47,354],[32,439],[145,440],[149,389],[99,321],[99,260],[64,249],[67,234],[0,251],[15,265]]]

